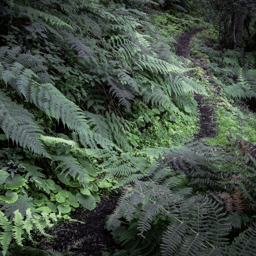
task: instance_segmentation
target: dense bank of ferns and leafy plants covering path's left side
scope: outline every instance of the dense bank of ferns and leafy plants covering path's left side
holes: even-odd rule
[[[152,175],[155,150],[197,132],[193,94],[205,89],[170,49],[200,20],[157,15],[154,25],[148,1],[64,2],[0,6],[3,256]]]

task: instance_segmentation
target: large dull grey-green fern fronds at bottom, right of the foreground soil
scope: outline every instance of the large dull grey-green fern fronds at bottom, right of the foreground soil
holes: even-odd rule
[[[142,203],[142,208],[138,208],[139,202]],[[125,209],[124,213],[122,209]],[[227,244],[224,237],[230,229],[230,224],[221,210],[218,204],[208,197],[191,197],[186,200],[182,196],[172,194],[163,185],[137,182],[134,189],[128,189],[123,194],[118,208],[108,219],[108,228],[117,224],[116,218],[123,216],[127,221],[131,221],[134,212],[140,211],[137,222],[138,235],[145,237],[144,233],[151,228],[151,223],[154,223],[156,216],[161,212],[173,218],[168,231],[163,234],[161,250],[164,255],[184,255],[188,251],[190,254],[205,255]],[[196,219],[191,221],[193,212],[195,214],[192,214],[192,218]]]

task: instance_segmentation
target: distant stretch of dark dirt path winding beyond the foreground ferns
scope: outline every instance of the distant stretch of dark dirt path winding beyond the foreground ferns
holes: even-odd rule
[[[175,47],[176,55],[188,57],[190,52],[191,38],[200,32],[202,29],[191,29],[178,38],[178,44]],[[202,95],[195,94],[194,99],[197,101],[198,110],[200,114],[200,131],[196,136],[196,139],[202,139],[205,137],[214,137],[215,131],[215,115],[214,110],[209,106],[208,99]]]

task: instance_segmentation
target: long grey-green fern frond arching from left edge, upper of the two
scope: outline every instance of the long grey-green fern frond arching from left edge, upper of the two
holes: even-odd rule
[[[17,62],[12,62],[13,56],[9,59],[12,52],[15,53]],[[20,47],[11,50],[1,47],[0,62],[2,80],[11,84],[49,117],[61,119],[71,130],[83,133],[89,128],[80,108],[69,101],[53,84],[44,81],[47,74],[40,71],[45,71],[46,68],[40,60],[31,54],[21,54]]]

